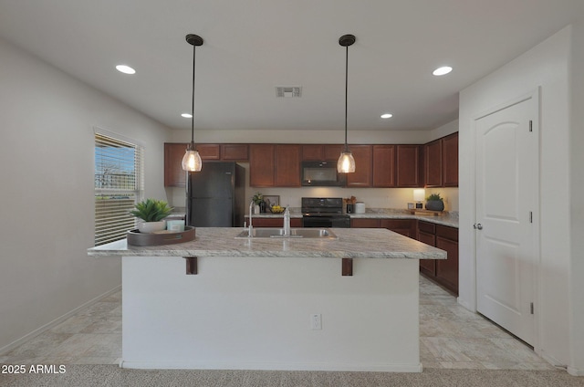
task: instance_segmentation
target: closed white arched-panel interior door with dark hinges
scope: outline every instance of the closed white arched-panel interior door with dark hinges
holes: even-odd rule
[[[475,121],[477,310],[533,345],[538,98]]]

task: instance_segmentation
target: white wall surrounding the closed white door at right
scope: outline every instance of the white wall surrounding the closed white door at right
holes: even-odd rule
[[[540,264],[536,350],[556,364],[569,363],[570,208],[569,58],[567,27],[460,94],[460,296],[475,309],[474,132],[473,120],[510,99],[541,87],[540,110]],[[580,76],[580,75],[579,75]],[[579,108],[581,110],[581,106]],[[581,143],[580,143],[581,147]],[[576,150],[575,148],[574,150]],[[580,183],[581,191],[581,183]],[[581,235],[580,235],[581,238]],[[478,274],[480,275],[480,273]],[[580,276],[581,277],[581,276]],[[581,293],[579,302],[581,302]],[[580,334],[582,325],[579,326]],[[579,341],[579,346],[584,341]]]

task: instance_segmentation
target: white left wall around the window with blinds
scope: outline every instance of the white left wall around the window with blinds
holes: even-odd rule
[[[3,352],[120,286],[120,259],[86,253],[94,235],[93,127],[145,144],[145,193],[159,198],[168,131],[4,40],[0,58]]]

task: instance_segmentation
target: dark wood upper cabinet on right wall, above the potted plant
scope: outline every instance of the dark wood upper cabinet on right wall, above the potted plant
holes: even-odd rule
[[[458,132],[424,145],[427,187],[458,186]]]

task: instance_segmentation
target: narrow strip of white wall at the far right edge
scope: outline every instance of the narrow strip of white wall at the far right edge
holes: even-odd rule
[[[572,64],[570,68],[571,131],[569,138],[569,203],[571,270],[570,295],[570,343],[571,361],[568,371],[584,376],[584,21],[574,24],[572,30]]]

